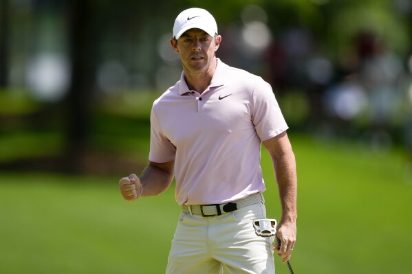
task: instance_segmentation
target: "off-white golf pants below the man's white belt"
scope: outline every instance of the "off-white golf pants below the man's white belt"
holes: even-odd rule
[[[274,239],[256,236],[252,225],[261,218],[263,202],[213,217],[182,212],[166,274],[274,274]]]

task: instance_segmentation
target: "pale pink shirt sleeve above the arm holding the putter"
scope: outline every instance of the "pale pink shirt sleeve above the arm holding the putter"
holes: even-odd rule
[[[261,141],[266,141],[288,129],[272,87],[260,77],[253,90],[252,121]]]

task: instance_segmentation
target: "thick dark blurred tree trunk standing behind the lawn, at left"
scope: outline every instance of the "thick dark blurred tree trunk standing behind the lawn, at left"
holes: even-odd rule
[[[101,28],[91,1],[67,1],[69,21],[69,58],[72,62],[71,84],[65,100],[67,106],[67,169],[77,171],[87,153],[87,139],[94,96],[96,56]]]

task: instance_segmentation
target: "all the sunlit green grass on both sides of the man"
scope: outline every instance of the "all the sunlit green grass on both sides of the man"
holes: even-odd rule
[[[410,273],[412,177],[402,153],[291,139],[295,273]],[[262,158],[268,216],[279,220],[272,164]],[[179,214],[174,188],[128,203],[117,180],[0,174],[0,273],[164,273]],[[277,274],[289,273],[276,262]]]

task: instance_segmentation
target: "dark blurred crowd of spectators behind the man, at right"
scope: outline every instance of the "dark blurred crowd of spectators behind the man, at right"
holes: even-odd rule
[[[412,48],[402,59],[378,34],[360,29],[345,51],[328,56],[310,30],[274,36],[264,21],[224,30],[219,54],[272,84],[292,128],[356,139],[376,152],[402,144],[412,155]]]

